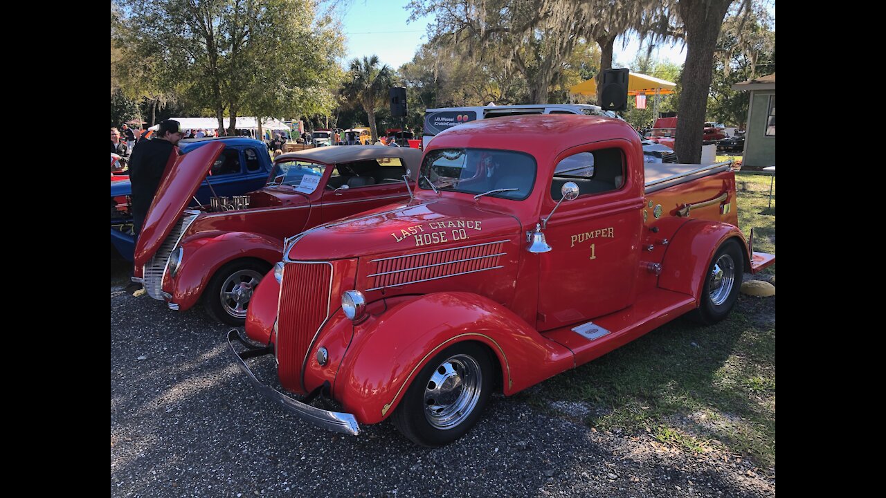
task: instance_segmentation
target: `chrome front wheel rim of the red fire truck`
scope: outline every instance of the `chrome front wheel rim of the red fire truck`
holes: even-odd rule
[[[424,386],[424,416],[437,429],[452,429],[470,416],[483,385],[477,360],[456,354],[439,364]]]

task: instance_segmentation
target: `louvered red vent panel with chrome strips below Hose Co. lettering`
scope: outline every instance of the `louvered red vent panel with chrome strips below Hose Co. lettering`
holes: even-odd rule
[[[377,266],[376,272],[369,274],[369,285],[372,288],[367,291],[502,268],[499,261],[506,254],[503,251],[505,242],[509,241],[500,240],[372,260]]]

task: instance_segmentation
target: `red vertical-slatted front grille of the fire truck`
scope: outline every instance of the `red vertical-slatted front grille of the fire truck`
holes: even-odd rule
[[[300,389],[307,348],[330,315],[331,287],[328,262],[291,262],[284,267],[275,349],[284,387]]]

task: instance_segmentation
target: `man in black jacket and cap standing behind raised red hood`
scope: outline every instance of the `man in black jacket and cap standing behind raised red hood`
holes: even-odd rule
[[[161,121],[156,135],[151,140],[139,141],[132,150],[129,181],[132,183],[132,223],[136,240],[163,179],[163,170],[170,156],[177,154],[175,145],[182,135],[178,121]]]

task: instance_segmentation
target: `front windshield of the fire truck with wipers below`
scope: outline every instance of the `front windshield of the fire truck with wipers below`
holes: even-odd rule
[[[535,183],[535,160],[529,154],[490,149],[441,149],[424,156],[418,186],[438,191],[480,194],[497,189],[487,197],[522,200]]]

